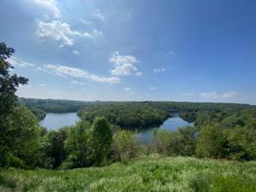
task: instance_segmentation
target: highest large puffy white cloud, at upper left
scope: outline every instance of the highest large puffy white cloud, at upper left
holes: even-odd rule
[[[53,38],[55,41],[60,42],[62,47],[64,45],[73,45],[76,37],[92,38],[90,33],[72,30],[67,23],[60,20],[52,20],[48,23],[39,21],[37,35],[39,38]]]

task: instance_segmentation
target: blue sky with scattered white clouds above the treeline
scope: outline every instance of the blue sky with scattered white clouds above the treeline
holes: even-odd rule
[[[18,96],[256,104],[254,0],[1,0]]]

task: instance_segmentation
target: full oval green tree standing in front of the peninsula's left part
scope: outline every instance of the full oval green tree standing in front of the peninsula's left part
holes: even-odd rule
[[[96,166],[102,165],[107,160],[112,143],[112,132],[108,120],[96,117],[90,128],[90,147],[92,160]]]

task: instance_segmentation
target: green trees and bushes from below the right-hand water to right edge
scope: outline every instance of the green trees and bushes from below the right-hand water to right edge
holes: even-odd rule
[[[228,160],[256,160],[256,109],[234,113],[201,111],[195,128],[154,133],[158,153]]]

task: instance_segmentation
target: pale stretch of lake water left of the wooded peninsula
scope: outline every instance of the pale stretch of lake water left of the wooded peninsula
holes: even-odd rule
[[[62,126],[74,125],[79,120],[77,113],[47,113],[41,125],[48,130],[57,130]]]

